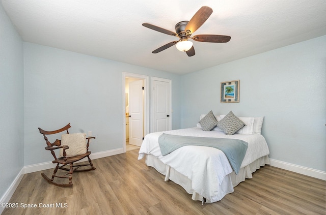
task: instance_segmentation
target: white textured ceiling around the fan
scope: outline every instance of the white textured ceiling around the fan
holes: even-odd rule
[[[23,41],[185,74],[326,35],[325,0],[1,0]],[[175,46],[177,38],[142,26],[174,32],[202,7],[212,15],[198,34],[231,36],[228,43],[194,41],[196,55]]]

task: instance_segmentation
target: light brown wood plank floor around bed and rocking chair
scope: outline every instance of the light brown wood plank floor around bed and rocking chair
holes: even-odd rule
[[[96,170],[75,172],[72,188],[49,185],[41,172],[25,174],[10,203],[37,207],[2,214],[325,214],[324,180],[264,166],[221,201],[202,205],[137,157],[131,150],[93,160]]]

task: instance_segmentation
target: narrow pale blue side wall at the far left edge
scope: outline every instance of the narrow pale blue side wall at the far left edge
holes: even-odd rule
[[[23,78],[23,42],[0,4],[0,200],[24,166]]]

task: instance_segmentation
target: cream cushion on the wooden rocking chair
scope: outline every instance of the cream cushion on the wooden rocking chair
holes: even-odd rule
[[[66,149],[66,157],[73,157],[77,155],[83,155],[87,152],[86,148],[86,134],[75,133],[75,134],[63,134],[61,136],[61,145],[68,145]],[[60,157],[63,157],[63,149],[60,148]]]

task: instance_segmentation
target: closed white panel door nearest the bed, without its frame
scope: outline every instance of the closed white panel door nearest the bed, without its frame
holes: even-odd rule
[[[171,84],[154,80],[154,132],[169,131]]]

